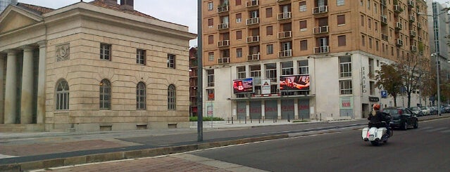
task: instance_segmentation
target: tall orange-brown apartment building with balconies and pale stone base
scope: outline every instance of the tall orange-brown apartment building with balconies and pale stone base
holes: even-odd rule
[[[202,21],[204,113],[217,117],[363,118],[394,105],[375,88],[383,63],[430,60],[422,0],[203,0]]]

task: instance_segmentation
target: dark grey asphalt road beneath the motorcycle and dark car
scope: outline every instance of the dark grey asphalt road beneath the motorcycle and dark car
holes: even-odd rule
[[[394,131],[388,143],[361,140],[361,128],[192,152],[265,171],[450,171],[450,119]]]

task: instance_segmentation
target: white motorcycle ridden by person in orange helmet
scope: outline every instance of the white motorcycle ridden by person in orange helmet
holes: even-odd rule
[[[387,126],[385,121],[383,121],[382,124],[384,124],[384,126]],[[380,145],[381,142],[387,143],[387,139],[392,137],[392,134],[392,128],[389,128],[389,133],[387,133],[386,127],[365,127],[363,128],[362,136],[364,141],[370,141],[372,145],[377,146]]]

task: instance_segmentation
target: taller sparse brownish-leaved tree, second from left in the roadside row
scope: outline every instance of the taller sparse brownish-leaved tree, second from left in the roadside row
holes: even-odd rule
[[[424,69],[427,67],[427,60],[415,55],[407,56],[395,64],[397,72],[401,75],[401,81],[406,88],[408,96],[408,107],[411,107],[411,93],[423,88],[423,76],[427,73]]]

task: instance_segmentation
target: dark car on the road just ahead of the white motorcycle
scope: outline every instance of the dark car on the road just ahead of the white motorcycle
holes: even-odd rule
[[[386,107],[383,112],[391,114],[391,122],[389,126],[392,128],[408,129],[408,126],[418,128],[419,120],[411,110],[406,107]]]

